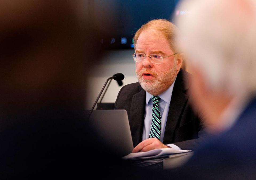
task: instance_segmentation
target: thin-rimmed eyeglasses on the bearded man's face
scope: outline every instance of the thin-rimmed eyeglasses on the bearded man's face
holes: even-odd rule
[[[135,62],[143,62],[146,59],[146,57],[149,57],[151,59],[152,63],[161,64],[163,62],[163,58],[167,58],[167,57],[173,56],[175,54],[178,54],[178,53],[174,53],[174,54],[166,56],[166,57],[163,57],[163,56],[157,55],[157,54],[150,54],[149,56],[147,56],[146,54],[143,54],[143,53],[133,53],[132,56],[133,56],[133,59]]]

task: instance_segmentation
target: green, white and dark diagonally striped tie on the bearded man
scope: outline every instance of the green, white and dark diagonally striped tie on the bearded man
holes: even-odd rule
[[[153,102],[153,108],[152,108],[152,121],[151,121],[151,128],[149,131],[149,138],[157,138],[158,140],[160,140],[160,135],[161,135],[161,114],[159,109],[160,97],[152,96],[151,100]]]

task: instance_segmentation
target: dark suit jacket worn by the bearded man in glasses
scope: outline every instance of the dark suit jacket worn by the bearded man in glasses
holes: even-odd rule
[[[173,88],[169,113],[163,138],[164,144],[175,144],[182,149],[195,149],[204,139],[201,121],[189,103],[190,74],[180,70]],[[128,84],[120,90],[115,109],[125,109],[129,117],[134,147],[142,141],[146,91],[137,83]],[[201,137],[197,139],[198,137]]]

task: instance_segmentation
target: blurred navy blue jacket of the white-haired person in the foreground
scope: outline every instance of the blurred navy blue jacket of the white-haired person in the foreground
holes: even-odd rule
[[[256,179],[256,97],[226,132],[208,139],[185,166],[158,179]],[[150,178],[154,179],[154,173]]]

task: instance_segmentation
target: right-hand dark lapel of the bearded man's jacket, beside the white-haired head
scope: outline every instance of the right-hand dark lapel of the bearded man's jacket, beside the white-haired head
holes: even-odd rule
[[[176,78],[173,93],[171,96],[170,108],[167,116],[165,134],[163,144],[173,141],[174,131],[179,121],[179,117],[183,111],[183,107],[186,104],[188,95],[184,93],[188,89],[187,78],[184,77],[183,70],[181,70]]]

